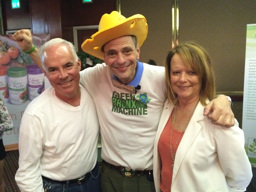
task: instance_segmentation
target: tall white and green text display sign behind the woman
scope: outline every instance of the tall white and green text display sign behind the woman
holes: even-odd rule
[[[247,25],[242,127],[245,150],[256,167],[256,24]]]

